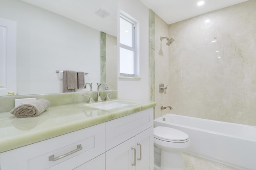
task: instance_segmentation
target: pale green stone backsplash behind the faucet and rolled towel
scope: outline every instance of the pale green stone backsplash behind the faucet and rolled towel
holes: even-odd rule
[[[111,93],[110,99],[117,99],[117,90],[108,90]],[[74,93],[58,93],[58,94],[35,94],[35,95],[20,95],[20,96],[2,96],[0,97],[0,113],[11,111],[14,108],[14,100],[22,98],[36,98],[49,100],[51,106],[73,104],[73,103],[83,103],[88,100],[84,96],[91,96],[95,101],[97,92],[74,92]]]

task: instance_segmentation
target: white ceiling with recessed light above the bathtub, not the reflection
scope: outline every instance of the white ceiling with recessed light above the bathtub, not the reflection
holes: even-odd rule
[[[232,6],[247,0],[203,0],[204,5],[198,6],[201,0],[140,0],[152,9],[167,24],[186,20],[194,16]]]

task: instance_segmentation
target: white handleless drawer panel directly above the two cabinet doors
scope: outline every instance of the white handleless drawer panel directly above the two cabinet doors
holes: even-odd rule
[[[106,150],[153,126],[153,108],[106,122]]]

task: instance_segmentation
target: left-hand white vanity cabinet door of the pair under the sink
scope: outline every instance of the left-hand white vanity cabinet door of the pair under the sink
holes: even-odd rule
[[[134,137],[106,152],[106,170],[135,170]]]

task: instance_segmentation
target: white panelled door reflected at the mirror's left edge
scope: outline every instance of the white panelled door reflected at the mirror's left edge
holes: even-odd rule
[[[16,94],[16,21],[0,18],[0,96]]]

